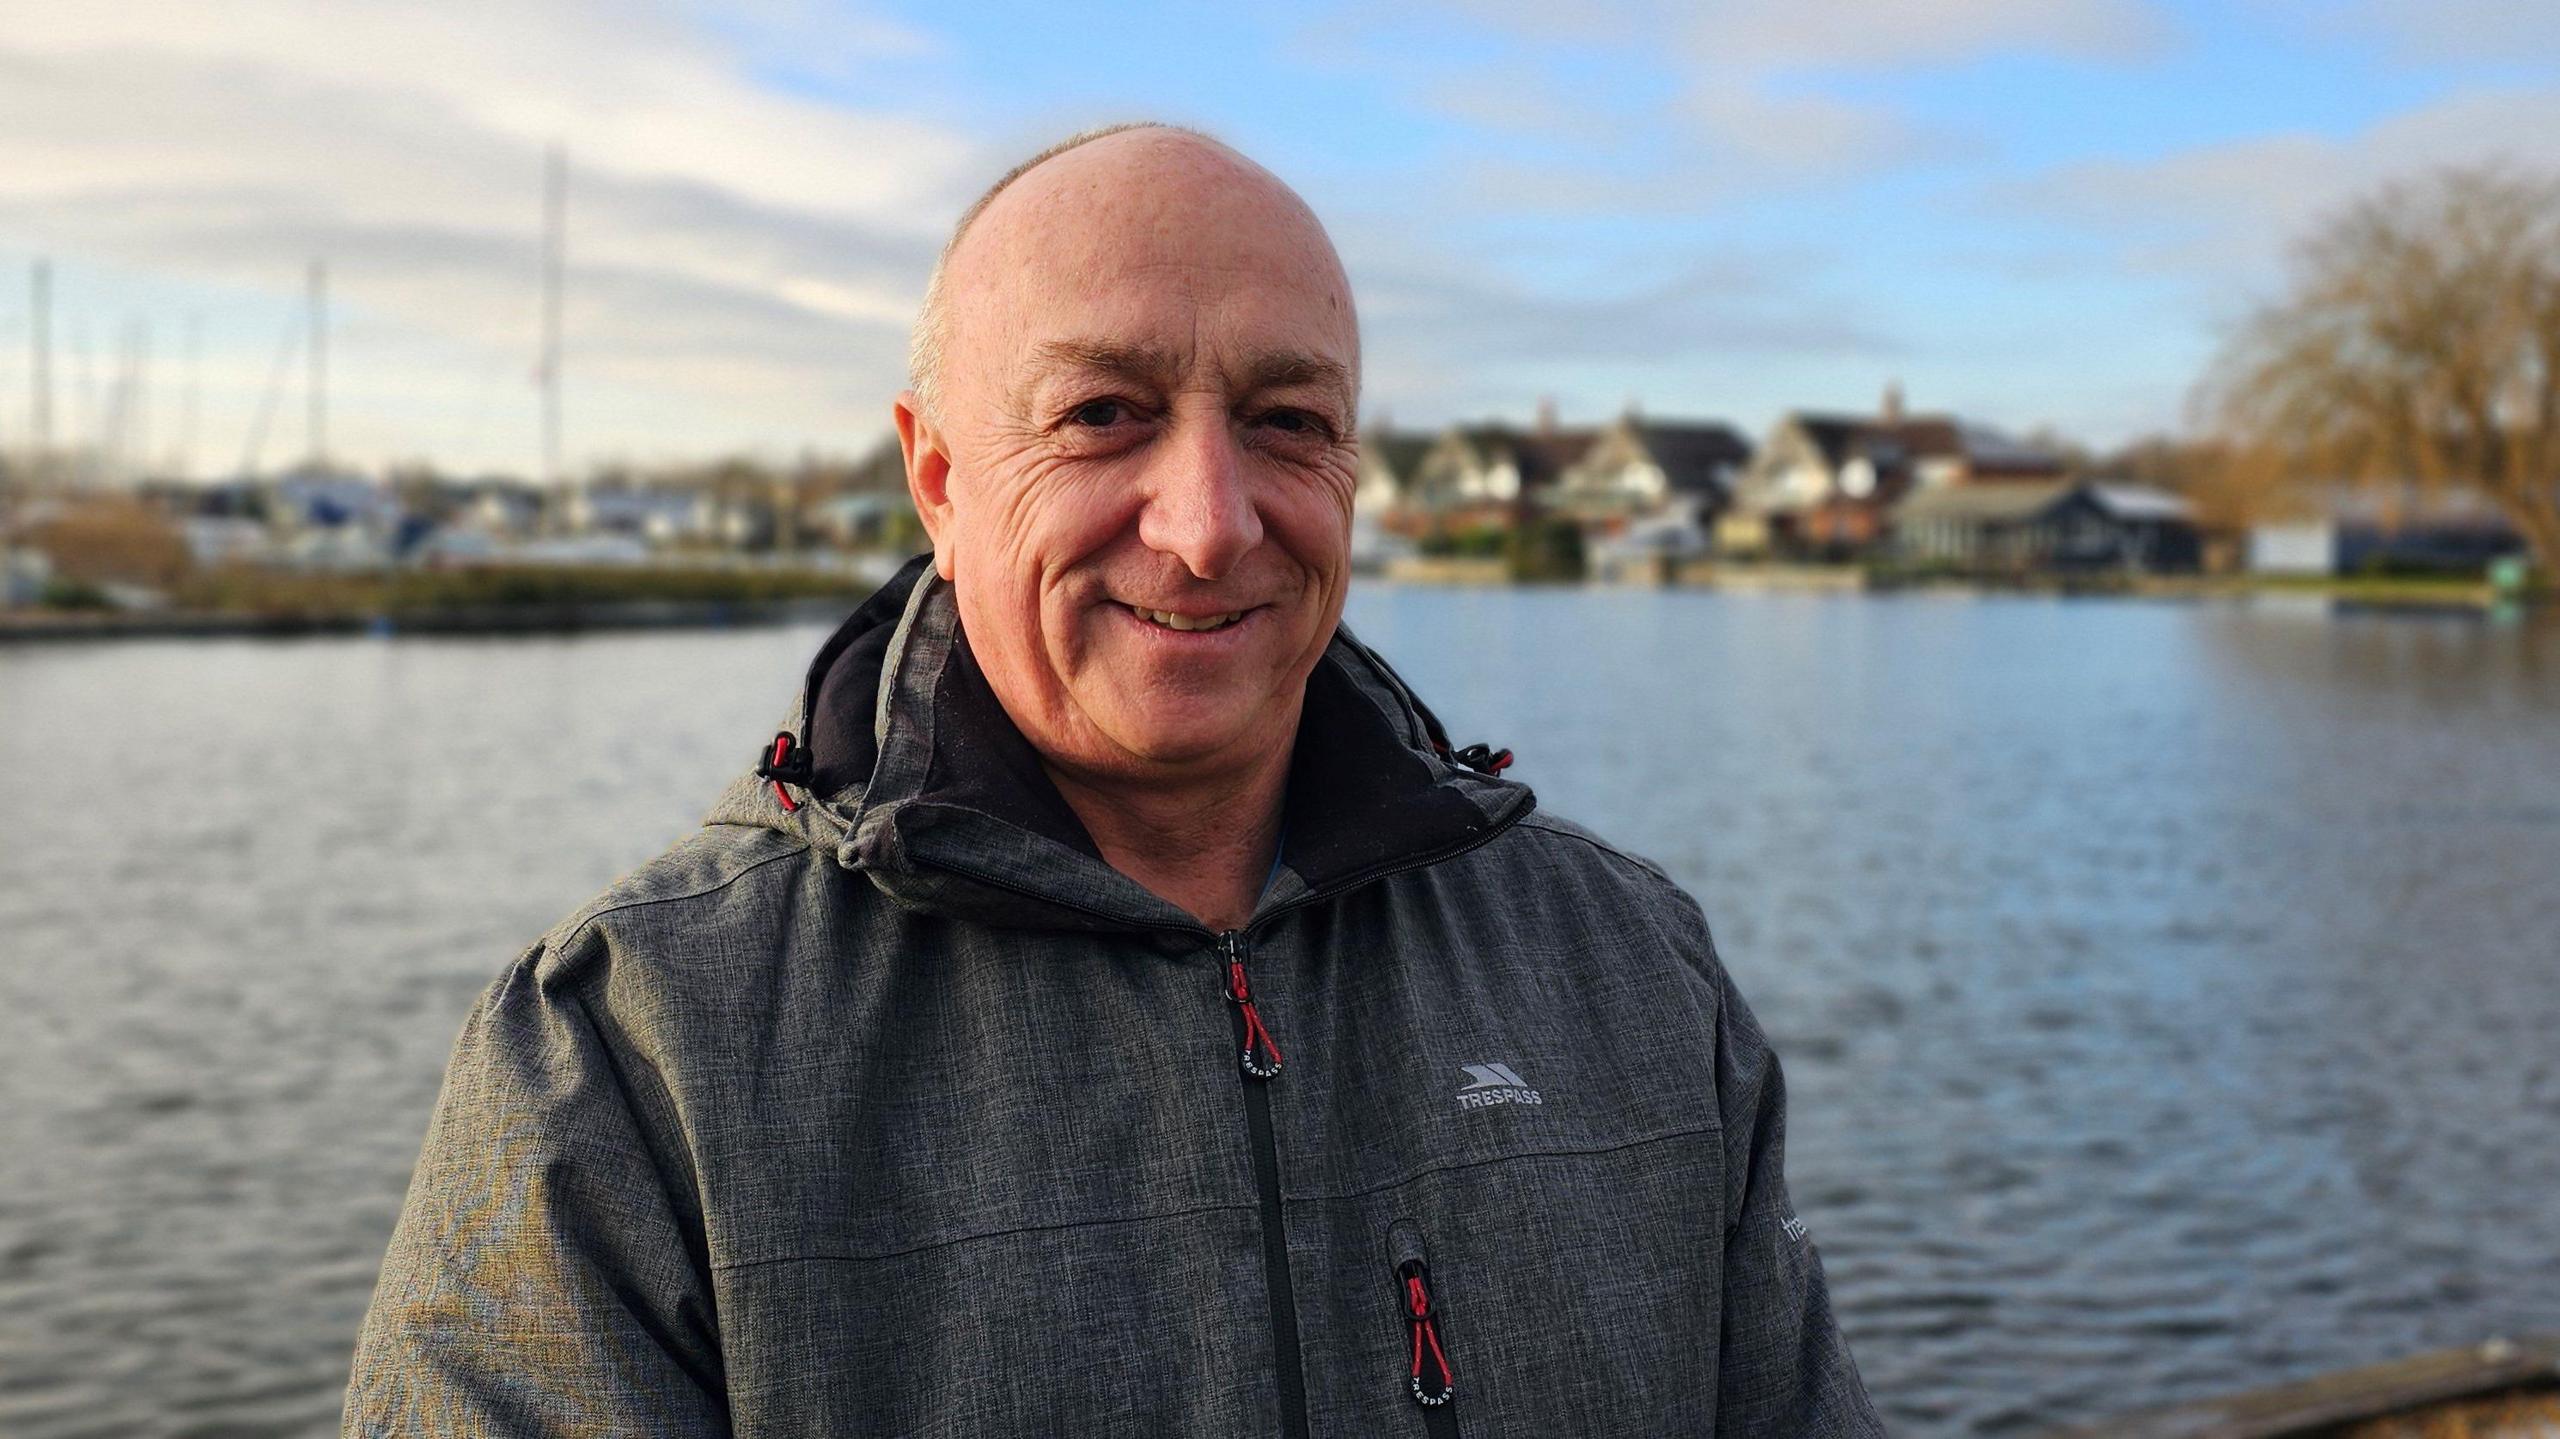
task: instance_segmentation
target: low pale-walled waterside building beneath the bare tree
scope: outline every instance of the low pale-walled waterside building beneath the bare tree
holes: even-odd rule
[[[2317,486],[2289,510],[2250,525],[2253,574],[2478,574],[2493,558],[2524,553],[2524,535],[2470,489]]]

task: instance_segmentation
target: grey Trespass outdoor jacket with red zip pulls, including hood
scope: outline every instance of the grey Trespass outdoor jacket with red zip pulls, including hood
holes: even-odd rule
[[[1697,904],[1349,632],[1229,935],[924,566],[765,760],[481,996],[348,1434],[1882,1434]]]

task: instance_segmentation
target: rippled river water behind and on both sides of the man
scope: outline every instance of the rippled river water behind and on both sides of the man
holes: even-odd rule
[[[1687,883],[1897,1434],[2560,1329],[2560,625],[1370,589]],[[0,1434],[328,1434],[471,996],[822,630],[0,650]]]

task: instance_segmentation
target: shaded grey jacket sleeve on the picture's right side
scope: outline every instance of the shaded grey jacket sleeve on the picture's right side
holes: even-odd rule
[[[1823,1260],[1787,1201],[1787,1081],[1715,965],[1715,1088],[1725,1127],[1725,1314],[1718,1431],[1884,1434],[1830,1319]]]

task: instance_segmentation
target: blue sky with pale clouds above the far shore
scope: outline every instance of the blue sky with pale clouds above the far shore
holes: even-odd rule
[[[328,448],[850,453],[968,200],[1096,123],[1201,125],[1326,220],[1364,415],[1912,410],[2176,433],[2322,215],[2560,169],[2547,0],[8,0],[0,448],[54,277],[56,440],[218,476]]]

